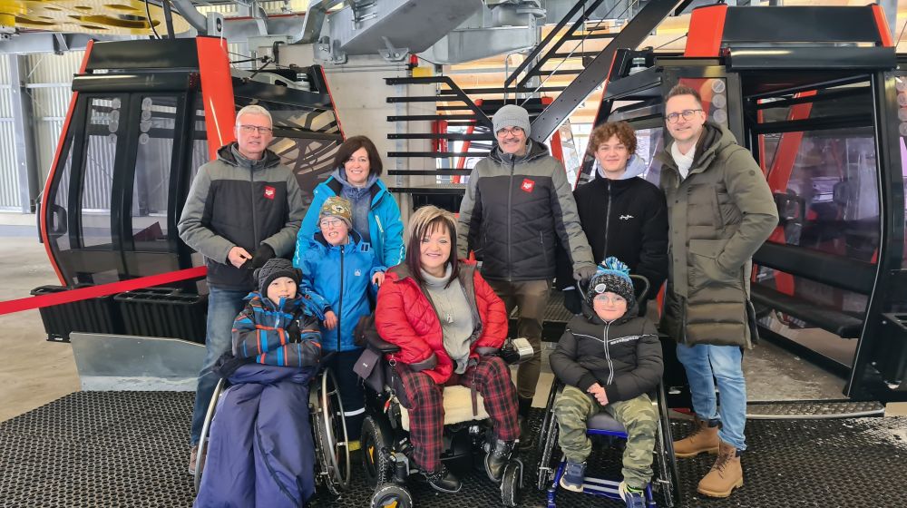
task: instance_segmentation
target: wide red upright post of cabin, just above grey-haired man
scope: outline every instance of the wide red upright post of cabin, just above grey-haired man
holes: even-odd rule
[[[201,97],[205,103],[208,155],[213,161],[221,146],[236,141],[233,78],[229,72],[226,39],[198,37],[196,45],[199,50]]]

